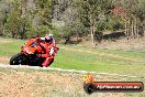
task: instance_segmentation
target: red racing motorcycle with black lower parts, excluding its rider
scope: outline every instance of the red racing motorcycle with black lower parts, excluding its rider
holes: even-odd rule
[[[44,54],[45,50],[38,42],[32,40],[29,40],[25,45],[21,47],[20,53],[10,58],[10,65],[42,66],[45,57],[40,57],[40,55]],[[53,54],[51,55],[48,66],[54,62],[54,56],[58,50],[58,47],[51,48],[51,53]]]

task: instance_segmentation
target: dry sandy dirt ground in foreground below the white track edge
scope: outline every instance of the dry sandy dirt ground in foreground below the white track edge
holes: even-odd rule
[[[8,71],[9,69],[9,71]],[[76,73],[0,69],[1,97],[88,97],[83,91],[83,75]],[[98,76],[98,80],[120,80]],[[124,97],[120,93],[92,94],[90,97]]]

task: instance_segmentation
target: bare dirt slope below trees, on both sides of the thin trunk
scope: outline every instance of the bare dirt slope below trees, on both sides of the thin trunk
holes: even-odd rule
[[[145,48],[145,37],[140,39],[120,39],[120,40],[102,40],[100,43],[96,43],[97,48],[107,50],[124,50],[124,51],[141,51]],[[91,46],[91,41],[85,41],[79,45]]]

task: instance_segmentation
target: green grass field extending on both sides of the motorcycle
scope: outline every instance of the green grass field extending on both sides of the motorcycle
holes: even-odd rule
[[[0,39],[0,56],[10,57],[21,51],[21,46],[25,41],[21,40],[7,40]],[[97,73],[118,73],[118,74],[129,74],[145,76],[145,54],[124,52],[124,51],[109,51],[109,50],[98,50],[91,48],[89,51],[94,53],[105,53],[111,55],[119,55],[126,58],[132,58],[135,61],[130,61],[121,57],[110,57],[105,55],[97,55],[86,52],[69,51],[62,47],[67,47],[71,50],[82,50],[88,51],[85,46],[66,46],[60,45],[59,52],[55,57],[55,62],[51,67],[60,67],[78,71],[94,71]]]

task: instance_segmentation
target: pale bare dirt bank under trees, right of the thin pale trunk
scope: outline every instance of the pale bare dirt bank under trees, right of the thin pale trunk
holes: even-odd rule
[[[145,46],[145,39],[122,39],[116,41],[102,41],[101,44],[98,44],[99,48],[108,48],[108,50],[140,50]]]

